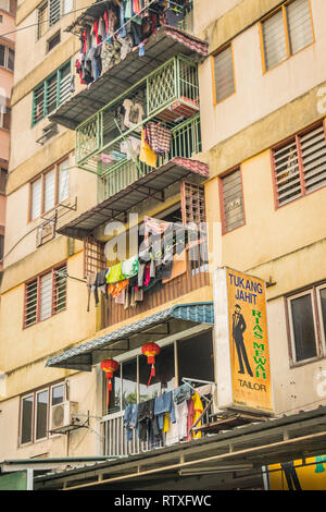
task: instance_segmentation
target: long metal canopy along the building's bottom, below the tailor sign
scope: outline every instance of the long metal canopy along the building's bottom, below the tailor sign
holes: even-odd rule
[[[160,489],[175,479],[185,486],[188,478],[183,477],[185,471],[197,471],[200,475],[202,467],[217,472],[229,466],[229,472],[234,473],[241,464],[260,470],[264,465],[321,455],[325,452],[325,441],[326,407],[319,406],[120,461],[41,475],[35,478],[35,484],[37,489],[114,489],[118,486],[118,489],[143,490],[156,477]],[[208,478],[202,480],[203,486]],[[216,474],[213,475],[210,488],[215,488],[216,478]],[[164,480],[167,483],[163,484]],[[200,488],[200,481],[195,485],[196,489]]]

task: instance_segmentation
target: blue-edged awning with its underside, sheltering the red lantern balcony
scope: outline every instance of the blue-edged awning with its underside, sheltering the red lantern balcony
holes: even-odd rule
[[[166,332],[154,329],[159,326],[167,324]],[[164,339],[172,333],[180,332],[193,326],[193,324],[214,324],[213,303],[195,303],[195,304],[180,304],[164,309],[163,312],[155,313],[142,320],[138,320],[126,327],[122,327],[113,332],[101,336],[92,341],[88,341],[83,345],[75,346],[63,352],[60,355],[50,357],[46,366],[55,368],[80,369],[84,371],[91,371],[91,367],[102,361],[105,355],[103,351],[110,350],[110,346],[115,343],[115,350],[125,352],[139,346],[139,334],[150,331],[151,336],[155,336],[155,341]],[[137,337],[137,340],[133,337]],[[148,337],[147,337],[148,340]],[[136,345],[133,344],[136,341]],[[120,346],[116,348],[116,342]]]

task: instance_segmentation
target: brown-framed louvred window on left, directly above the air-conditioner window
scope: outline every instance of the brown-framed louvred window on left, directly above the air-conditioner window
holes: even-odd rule
[[[25,284],[24,328],[64,310],[66,307],[66,264]]]

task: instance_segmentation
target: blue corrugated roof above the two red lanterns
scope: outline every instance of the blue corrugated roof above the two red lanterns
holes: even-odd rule
[[[180,304],[148,316],[113,332],[96,338],[79,346],[75,346],[60,355],[50,357],[46,366],[58,368],[73,368],[90,371],[96,364],[92,357],[93,351],[103,350],[120,340],[126,340],[131,336],[146,331],[170,319],[187,320],[196,324],[214,324],[213,303]]]

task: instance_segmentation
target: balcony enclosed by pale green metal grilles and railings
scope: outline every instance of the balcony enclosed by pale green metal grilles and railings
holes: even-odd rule
[[[128,102],[141,108],[143,114],[140,122],[136,121],[128,129],[129,122],[123,132],[117,112],[124,111]],[[118,173],[118,169],[128,168],[129,163],[121,151],[122,143],[130,136],[140,139],[140,131],[148,121],[160,122],[171,130],[171,158],[190,158],[200,150],[199,117],[191,126],[185,120],[196,113],[199,113],[197,65],[175,57],[77,127],[77,166],[101,176],[111,174],[113,169]],[[110,157],[122,160],[104,163]],[[160,160],[158,167],[162,163]]]

